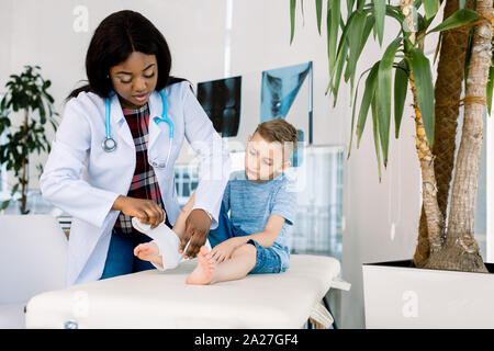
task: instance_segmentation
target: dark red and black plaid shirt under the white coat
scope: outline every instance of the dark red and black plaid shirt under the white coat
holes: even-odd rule
[[[149,106],[146,103],[137,110],[122,110],[134,138],[136,158],[134,177],[132,179],[131,189],[128,190],[127,196],[153,200],[165,211],[155,170],[147,160],[147,145],[149,140]],[[168,222],[168,216],[166,216],[165,224],[171,228],[171,224]],[[122,212],[119,214],[114,228],[124,234],[138,234],[138,231],[132,226],[131,216],[125,215]]]

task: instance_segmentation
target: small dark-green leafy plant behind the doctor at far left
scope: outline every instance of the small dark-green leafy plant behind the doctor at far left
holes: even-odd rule
[[[13,170],[16,179],[12,186],[11,199],[4,201],[0,210],[9,206],[14,200],[14,194],[21,189],[20,210],[27,214],[27,183],[29,183],[29,158],[34,151],[50,150],[46,139],[45,124],[49,122],[54,131],[57,122],[54,116],[58,115],[53,110],[54,99],[47,92],[52,82],[43,79],[38,70],[40,66],[24,66],[20,75],[11,75],[5,83],[5,94],[0,103],[0,135],[5,133],[7,141],[0,145],[0,165],[7,163],[7,170]],[[21,112],[24,115],[23,123],[15,127],[11,124],[13,113]],[[36,166],[40,174],[43,165]]]

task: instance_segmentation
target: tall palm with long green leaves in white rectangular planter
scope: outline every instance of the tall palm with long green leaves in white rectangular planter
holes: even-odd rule
[[[323,1],[315,3],[321,34]],[[444,20],[433,27],[441,5]],[[291,39],[295,7],[296,0],[291,0]],[[353,111],[348,156],[353,131],[358,147],[370,110],[381,177],[381,165],[388,163],[391,106],[393,103],[394,134],[398,138],[408,87],[415,113],[423,196],[418,242],[413,259],[363,264],[368,328],[494,327],[490,296],[494,275],[487,270],[492,271],[492,265],[482,260],[473,233],[483,115],[486,109],[491,111],[492,101],[492,0],[400,0],[395,4],[347,0],[348,14],[344,16],[340,0],[327,1],[326,93],[333,94],[336,104],[341,78],[350,81]],[[379,44],[384,44],[386,16],[397,21],[400,31],[386,43],[381,59],[355,84],[356,66],[371,31]],[[424,54],[424,42],[431,33],[440,33],[435,86],[430,61]],[[358,89],[366,75],[360,97]],[[463,83],[464,98],[460,99]],[[454,165],[461,105],[464,122]]]

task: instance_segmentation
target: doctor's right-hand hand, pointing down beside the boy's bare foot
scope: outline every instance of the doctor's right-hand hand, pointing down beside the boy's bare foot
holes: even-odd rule
[[[186,220],[186,234],[180,238],[180,253],[183,252],[187,242],[189,242],[190,239],[190,245],[183,256],[186,259],[192,259],[198,254],[199,249],[206,241],[207,234],[210,234],[210,226],[211,219],[204,210],[192,210]]]

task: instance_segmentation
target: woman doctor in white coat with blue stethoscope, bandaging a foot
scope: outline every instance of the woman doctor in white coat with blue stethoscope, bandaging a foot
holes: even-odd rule
[[[180,250],[197,254],[217,227],[229,176],[227,148],[142,14],[120,11],[97,27],[86,56],[89,84],[67,98],[40,179],[43,197],[72,216],[67,284],[154,267],[134,257],[149,241],[131,217],[171,227],[180,212],[173,163],[183,138],[201,158],[201,179]]]

